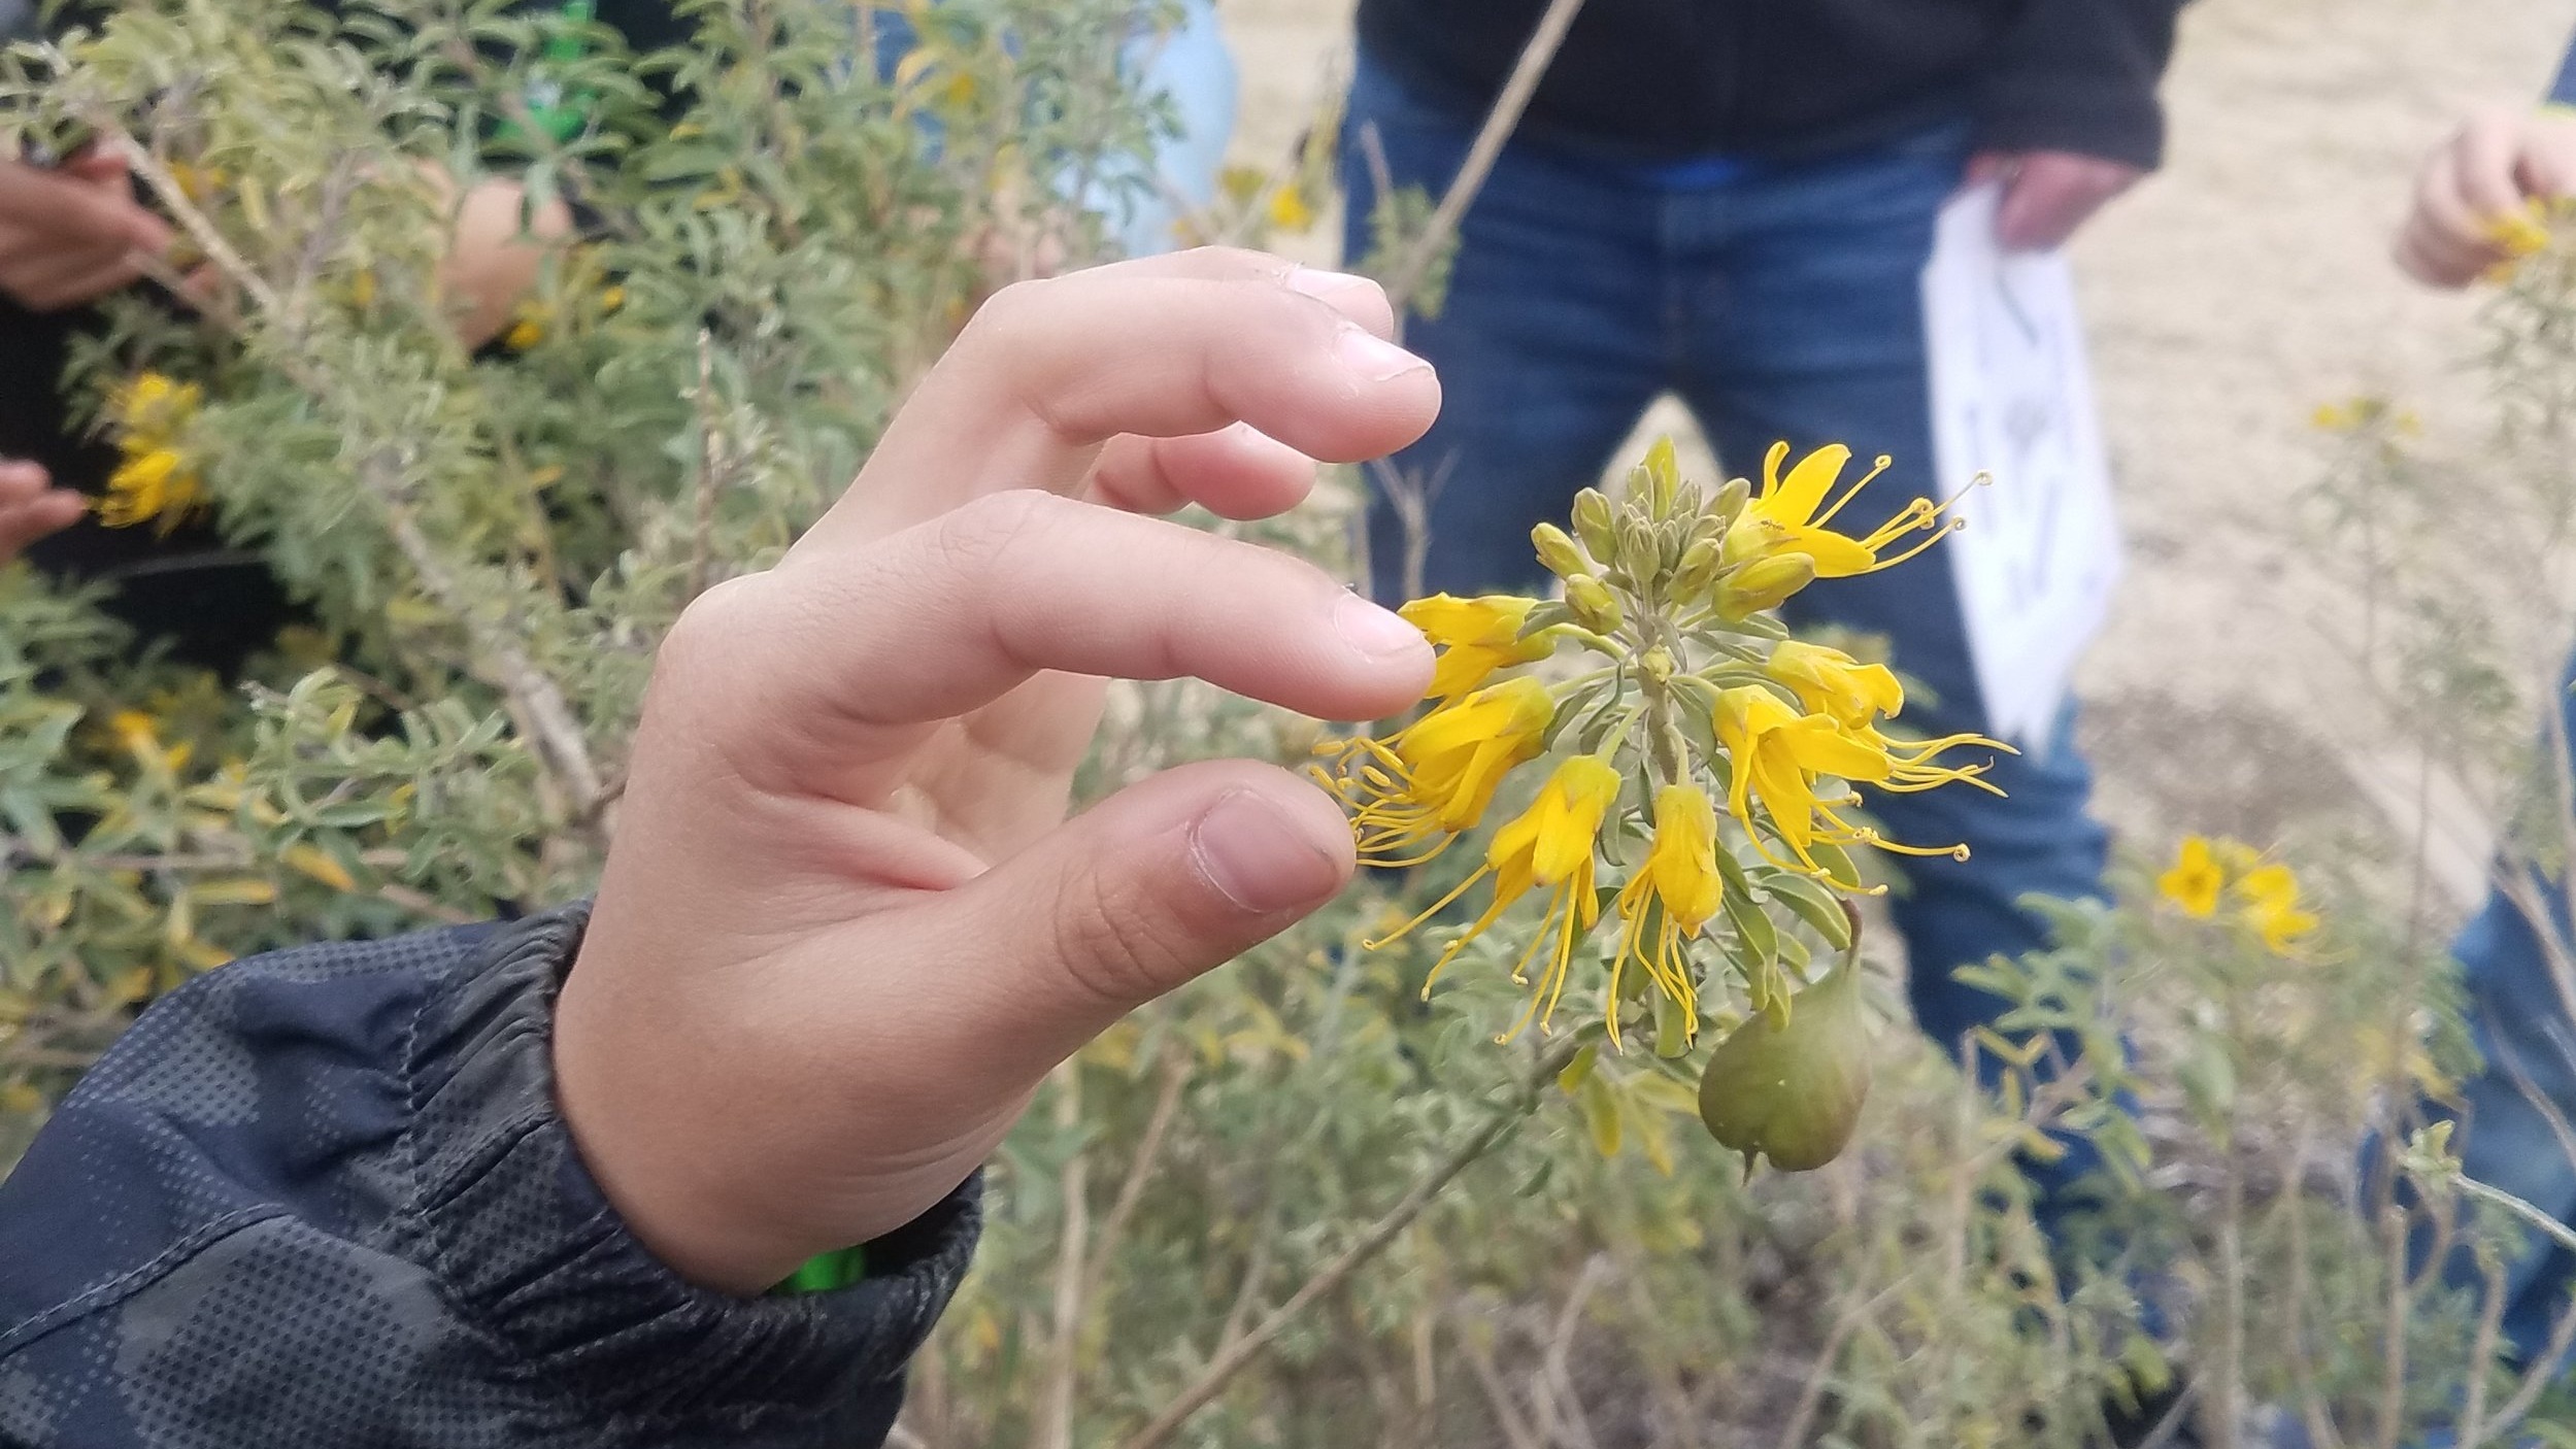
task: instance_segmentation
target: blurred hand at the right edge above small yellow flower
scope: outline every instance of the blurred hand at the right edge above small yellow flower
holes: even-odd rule
[[[2576,193],[2576,113],[2481,111],[2424,157],[2398,265],[2427,286],[2468,286],[2514,260],[2530,203]]]

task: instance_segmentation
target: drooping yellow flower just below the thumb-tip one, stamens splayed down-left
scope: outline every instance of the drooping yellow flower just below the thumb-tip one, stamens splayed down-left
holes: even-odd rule
[[[1600,842],[1610,806],[1618,803],[1618,788],[1620,772],[1607,762],[1592,754],[1566,759],[1538,790],[1538,800],[1520,818],[1494,831],[1494,844],[1486,847],[1484,865],[1473,875],[1461,880],[1448,896],[1432,901],[1427,911],[1396,927],[1388,937],[1368,942],[1368,947],[1376,950],[1404,937],[1466,896],[1479,880],[1492,878],[1494,901],[1432,963],[1430,981],[1422,983],[1422,993],[1430,996],[1432,981],[1440,981],[1440,973],[1448,963],[1458,960],[1458,952],[1471,939],[1492,929],[1522,896],[1546,885],[1548,914],[1540,916],[1538,929],[1530,932],[1530,947],[1512,965],[1512,981],[1530,986],[1530,1009],[1520,1014],[1520,1022],[1504,1037],[1520,1035],[1533,1019],[1546,1032],[1548,1019],[1556,1014],[1556,1001],[1566,993],[1566,970],[1574,963],[1574,947],[1600,919],[1600,898],[1592,891],[1597,872],[1595,844]],[[1538,978],[1530,981],[1530,963],[1540,952],[1546,952],[1546,963]]]

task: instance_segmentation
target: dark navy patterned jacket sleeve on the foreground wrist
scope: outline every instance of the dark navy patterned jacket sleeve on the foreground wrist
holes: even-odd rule
[[[144,1011],[0,1181],[0,1444],[881,1444],[976,1184],[842,1292],[675,1277],[554,1112],[585,919],[268,955]]]

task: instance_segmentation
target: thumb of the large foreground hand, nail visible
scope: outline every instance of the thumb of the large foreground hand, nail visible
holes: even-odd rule
[[[1352,860],[1332,798],[1285,770],[1224,759],[1103,800],[943,906],[979,937],[956,960],[981,945],[1010,975],[984,1029],[1043,1071],[1332,901]]]

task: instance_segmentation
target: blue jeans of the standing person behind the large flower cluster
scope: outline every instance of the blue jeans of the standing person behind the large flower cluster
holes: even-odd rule
[[[1412,95],[1360,59],[1342,144],[1347,255],[1368,250],[1376,206],[1363,129],[1376,126],[1396,185],[1448,188],[1476,116]],[[1646,172],[1510,144],[1461,229],[1445,309],[1414,319],[1406,345],[1440,368],[1445,404],[1394,466],[1437,479],[1425,589],[1540,589],[1530,525],[1561,520],[1574,492],[1662,391],[1677,391],[1734,471],[1772,440],[1850,443],[1888,468],[1852,504],[1870,525],[1932,492],[1932,422],[1919,278],[1932,219],[1960,183],[1965,126],[1801,165],[1700,162]],[[1404,525],[1383,497],[1368,517],[1373,589],[1404,592]],[[1790,602],[1798,625],[1847,625],[1893,643],[1924,687],[1906,726],[1986,731],[1950,558],[1922,558],[1816,584]],[[2002,1001],[1953,978],[1986,957],[2045,947],[2022,896],[2102,893],[2105,831],[2087,816],[2092,772],[2074,713],[2045,752],[1996,759],[1981,790],[1875,795],[1893,839],[1965,842],[1971,860],[1906,860],[1893,903],[1911,960],[1914,1017],[1945,1048]],[[2092,1166],[2076,1150],[2058,1186]]]

